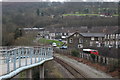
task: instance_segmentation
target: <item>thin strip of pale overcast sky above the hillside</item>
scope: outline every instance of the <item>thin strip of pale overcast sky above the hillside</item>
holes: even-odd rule
[[[0,0],[2,2],[40,2],[40,1],[47,1],[47,2],[63,2],[63,1],[69,1],[69,2],[118,2],[120,0]]]

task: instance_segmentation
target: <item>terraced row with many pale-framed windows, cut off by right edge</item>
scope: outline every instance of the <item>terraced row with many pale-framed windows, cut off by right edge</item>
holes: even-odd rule
[[[104,36],[105,47],[120,47],[120,32],[116,30],[113,33]]]

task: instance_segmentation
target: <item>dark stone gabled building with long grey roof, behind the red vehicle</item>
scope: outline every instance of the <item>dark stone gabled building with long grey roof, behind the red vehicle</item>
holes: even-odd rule
[[[68,48],[80,49],[86,47],[101,47],[103,45],[103,33],[79,33],[75,32],[67,38]]]

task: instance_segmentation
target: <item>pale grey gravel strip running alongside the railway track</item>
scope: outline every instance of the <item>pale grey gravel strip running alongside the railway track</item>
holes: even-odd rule
[[[62,61],[69,64],[70,66],[74,67],[86,78],[112,78],[112,76],[110,76],[109,74],[106,74],[103,71],[97,70],[94,67],[78,62],[67,56],[60,55],[60,54],[54,54],[54,57],[59,58]]]

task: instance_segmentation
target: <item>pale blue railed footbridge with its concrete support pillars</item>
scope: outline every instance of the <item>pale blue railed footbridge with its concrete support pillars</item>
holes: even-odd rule
[[[10,79],[26,72],[32,78],[32,68],[39,67],[40,78],[44,78],[43,63],[53,59],[51,47],[15,47],[0,50],[0,80]]]

